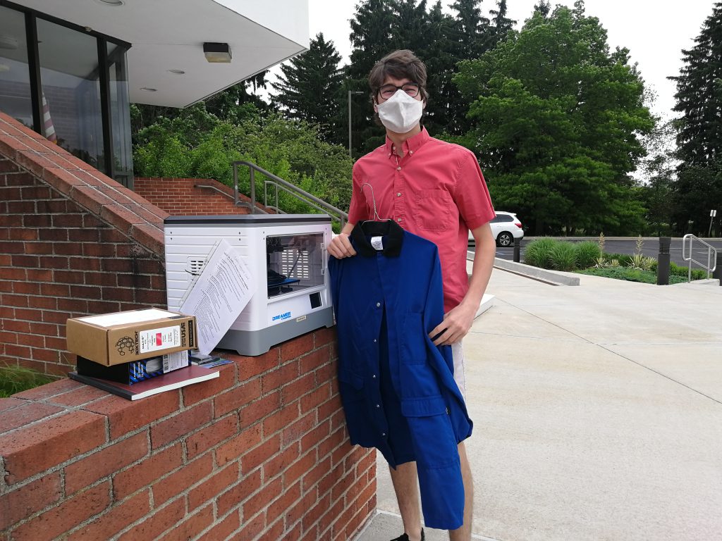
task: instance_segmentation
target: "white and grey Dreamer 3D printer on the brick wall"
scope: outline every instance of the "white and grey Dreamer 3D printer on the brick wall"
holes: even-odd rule
[[[285,340],[334,325],[326,271],[329,216],[168,216],[164,229],[168,309],[181,306],[220,239],[236,247],[258,278],[251,300],[218,348],[260,355]]]

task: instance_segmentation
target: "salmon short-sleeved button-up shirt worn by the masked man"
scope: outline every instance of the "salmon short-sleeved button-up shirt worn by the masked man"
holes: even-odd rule
[[[469,290],[469,229],[495,216],[489,190],[474,153],[432,138],[426,128],[404,141],[400,150],[403,157],[386,138],[386,144],[354,164],[349,223],[393,219],[434,242],[448,312]]]

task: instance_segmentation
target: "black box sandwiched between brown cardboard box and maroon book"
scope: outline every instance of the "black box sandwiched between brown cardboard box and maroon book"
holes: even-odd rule
[[[132,385],[152,377],[168,374],[173,370],[185,368],[189,364],[191,364],[191,357],[188,355],[188,350],[176,351],[175,353],[151,357],[150,359],[141,359],[140,361],[113,364],[113,366],[105,366],[105,364],[98,364],[90,361],[90,359],[78,357],[77,372],[82,376],[98,377],[100,379],[109,379],[111,382]]]

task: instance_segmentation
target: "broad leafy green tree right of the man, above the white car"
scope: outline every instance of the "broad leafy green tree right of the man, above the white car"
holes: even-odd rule
[[[471,106],[461,142],[477,151],[498,208],[536,234],[638,233],[644,208],[630,177],[653,118],[627,51],[610,53],[595,17],[535,12],[454,81]]]

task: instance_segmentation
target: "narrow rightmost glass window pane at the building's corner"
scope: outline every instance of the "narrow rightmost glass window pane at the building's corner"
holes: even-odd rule
[[[125,48],[108,43],[108,69],[110,70],[110,126],[113,128],[113,163],[110,176],[122,185],[131,187],[133,148]]]

